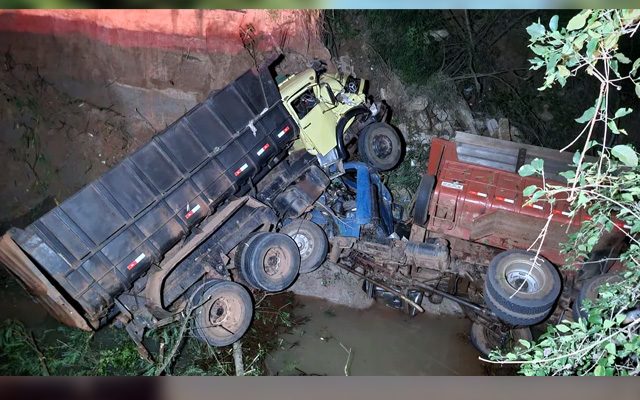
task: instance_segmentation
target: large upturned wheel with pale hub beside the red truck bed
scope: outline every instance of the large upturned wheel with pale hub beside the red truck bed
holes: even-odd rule
[[[562,280],[556,268],[542,257],[532,267],[534,257],[524,250],[495,256],[487,269],[485,294],[516,314],[549,313],[560,295]]]

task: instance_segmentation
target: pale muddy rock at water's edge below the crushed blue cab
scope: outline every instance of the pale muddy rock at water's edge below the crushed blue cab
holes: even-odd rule
[[[325,263],[314,272],[301,274],[291,291],[356,309],[369,308],[373,304],[373,299],[362,290],[362,279],[331,263]]]

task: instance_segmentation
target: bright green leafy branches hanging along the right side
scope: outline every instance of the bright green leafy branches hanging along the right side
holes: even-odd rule
[[[493,354],[496,360],[520,365],[521,374],[640,374],[640,319],[627,318],[640,302],[640,166],[631,145],[610,141],[628,140],[620,123],[633,111],[614,107],[613,93],[635,89],[640,97],[640,58],[632,61],[621,50],[639,28],[640,10],[583,10],[564,28],[557,16],[548,24],[537,22],[527,28],[529,48],[536,55],[532,68],[546,70],[540,90],[564,86],[581,74],[596,80],[600,90],[593,106],[576,119],[583,125],[575,139],[582,148],[573,158],[574,169],[564,173],[568,187],[545,182],[543,187],[526,188],[524,194],[531,196],[530,201],[548,202],[552,209],[559,198],[568,198],[572,215],[586,211],[591,217],[565,244],[574,260],[586,257],[608,231],[624,232],[629,246],[619,256],[626,267],[623,279],[600,287],[594,304],[586,304],[586,319],[549,326],[534,343],[521,341],[516,352]],[[588,152],[597,154],[595,161],[585,158]],[[543,167],[542,160],[534,160],[520,174],[544,178]],[[544,233],[538,249],[544,245]]]

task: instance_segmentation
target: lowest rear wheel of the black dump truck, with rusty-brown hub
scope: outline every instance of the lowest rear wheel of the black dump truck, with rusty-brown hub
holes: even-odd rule
[[[251,323],[253,303],[245,288],[231,281],[212,281],[193,297],[195,336],[211,346],[240,339]]]

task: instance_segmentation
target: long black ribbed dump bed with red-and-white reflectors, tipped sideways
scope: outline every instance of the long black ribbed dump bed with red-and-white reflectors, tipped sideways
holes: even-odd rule
[[[97,327],[115,296],[264,176],[297,134],[269,72],[248,71],[11,236]]]

